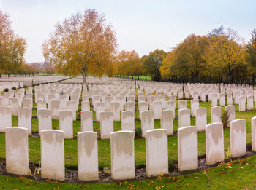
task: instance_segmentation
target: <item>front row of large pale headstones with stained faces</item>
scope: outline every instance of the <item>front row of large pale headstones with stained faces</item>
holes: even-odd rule
[[[256,151],[256,117],[252,118],[252,151]],[[29,174],[28,132],[23,127],[6,129],[7,173]],[[111,176],[114,180],[135,178],[134,132],[110,133]],[[195,170],[198,167],[197,127],[178,129],[178,170]],[[13,151],[16,150],[16,151]],[[231,157],[246,154],[246,120],[230,122]],[[156,156],[157,155],[157,156]],[[206,126],[206,163],[214,165],[224,161],[223,124]],[[78,179],[98,180],[97,132],[78,133]],[[156,176],[168,173],[167,130],[146,131],[146,175]],[[63,181],[64,131],[41,131],[41,175]]]

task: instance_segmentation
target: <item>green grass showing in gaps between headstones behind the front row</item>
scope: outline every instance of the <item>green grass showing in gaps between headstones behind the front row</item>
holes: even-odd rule
[[[178,100],[177,100],[178,104]],[[35,104],[34,104],[35,106]],[[190,101],[187,101],[187,106],[190,108]],[[200,102],[200,107],[207,108],[207,121],[211,122],[211,103]],[[91,107],[92,108],[92,107]],[[222,109],[225,107],[223,106]],[[135,110],[138,110],[138,102],[135,103]],[[236,105],[236,111],[238,110],[238,105]],[[33,116],[37,116],[36,108],[33,109]],[[256,111],[244,111],[236,112],[236,119],[246,119],[246,140],[247,143],[251,143],[251,118],[256,115]],[[95,113],[94,113],[95,119]],[[138,111],[135,111],[135,128],[140,127],[140,121],[138,120]],[[59,130],[59,121],[53,120],[53,129]],[[94,131],[100,131],[99,122],[93,122]],[[191,118],[191,125],[195,126],[195,117]],[[18,126],[18,117],[12,117],[12,126]],[[160,121],[155,120],[155,128],[160,128]],[[114,122],[114,131],[121,130],[121,122]],[[176,110],[176,119],[173,119],[173,131],[178,130],[178,110]],[[38,132],[38,122],[37,118],[32,118],[32,132]],[[66,167],[76,168],[78,166],[77,161],[77,134],[80,132],[80,121],[73,122],[73,134],[74,139],[65,140],[65,165]],[[229,128],[224,130],[224,142],[225,150],[230,149],[230,130]],[[39,163],[40,162],[40,142],[39,138],[29,137],[29,162]],[[145,149],[145,139],[135,139],[135,167],[145,167],[146,166],[146,149]],[[0,134],[0,147],[4,146],[4,134]],[[99,154],[99,168],[109,167],[111,165],[110,159],[110,140],[98,140],[98,154]],[[203,156],[206,154],[206,136],[205,132],[198,133],[198,154]],[[178,157],[178,143],[177,136],[173,135],[168,137],[168,157],[169,164],[177,163]],[[5,149],[1,149],[0,158],[5,158]]]

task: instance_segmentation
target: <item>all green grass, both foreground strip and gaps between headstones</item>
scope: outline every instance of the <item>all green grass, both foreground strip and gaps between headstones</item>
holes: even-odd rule
[[[178,105],[178,100],[176,100],[176,104]],[[32,132],[38,132],[38,121],[37,121],[37,109],[36,104],[33,105],[34,108],[32,110],[31,119],[32,122]],[[190,108],[190,100],[187,101],[187,107]],[[208,123],[211,122],[211,103],[203,103],[200,102],[200,107],[207,108],[207,121]],[[178,106],[177,106],[178,108]],[[253,111],[244,111],[244,112],[237,112],[238,105],[235,106],[236,108],[236,119],[246,119],[246,141],[247,143],[251,143],[251,118],[256,115],[256,110]],[[80,106],[79,106],[80,109]],[[222,107],[222,110],[225,109],[225,106]],[[91,107],[92,110],[92,107]],[[95,119],[95,113],[93,114]],[[140,121],[138,115],[138,102],[135,102],[135,128],[140,127]],[[195,117],[191,118],[191,125],[195,125]],[[12,126],[18,126],[18,117],[12,117]],[[100,124],[99,122],[93,122],[94,131],[100,131]],[[155,128],[160,127],[160,121],[155,120]],[[59,130],[59,121],[53,120],[53,129]],[[121,130],[121,123],[114,122],[114,130]],[[176,133],[178,130],[178,110],[176,109],[176,118],[173,119],[173,131]],[[65,167],[77,169],[78,167],[78,152],[77,152],[77,133],[80,132],[80,121],[73,122],[73,132],[74,132],[74,139],[71,140],[64,140],[65,146]],[[229,128],[224,130],[224,142],[225,142],[225,150],[227,151],[230,149],[230,130]],[[135,139],[135,167],[146,167],[146,150],[145,150],[145,139],[138,138]],[[111,159],[110,159],[110,140],[98,140],[98,158],[99,158],[99,169],[103,169],[105,167],[110,168],[111,166]],[[203,156],[206,154],[206,136],[205,132],[198,133],[198,156]],[[169,165],[173,165],[177,163],[178,157],[178,143],[177,143],[177,136],[173,135],[168,137],[168,158],[169,158]],[[0,158],[5,159],[5,136],[4,134],[0,134]],[[170,189],[170,188],[187,188],[187,189],[230,189],[230,186],[233,186],[234,189],[241,189],[244,186],[248,186],[249,188],[255,188],[255,183],[252,182],[252,179],[255,178],[255,157],[250,157],[253,160],[253,163],[249,163],[249,165],[253,165],[253,167],[248,167],[249,165],[244,165],[244,170],[237,169],[241,167],[237,163],[234,163],[232,166],[237,170],[233,169],[232,172],[226,172],[219,177],[217,171],[225,167],[220,166],[216,167],[215,170],[210,169],[207,172],[207,175],[202,172],[192,173],[188,175],[180,175],[176,176],[175,179],[169,177],[161,177],[147,181],[129,181],[127,183],[122,182],[121,186],[119,183],[86,183],[86,184],[72,184],[72,183],[45,183],[45,182],[37,182],[37,181],[30,181],[26,178],[12,178],[10,176],[0,175],[0,181],[2,182],[2,186],[7,186],[10,188],[18,187],[20,189],[30,188],[30,185],[33,188],[38,189],[45,189],[47,188],[57,188],[58,186],[62,189],[80,189],[83,185],[87,189],[119,189],[121,187],[127,189],[132,187],[136,187],[136,189]],[[40,139],[37,137],[29,137],[29,162],[39,164],[40,163]],[[238,165],[238,166],[237,166]],[[245,171],[246,173],[239,173],[241,171]],[[248,175],[249,174],[249,175]],[[238,176],[243,179],[240,180]],[[195,178],[196,177],[196,178]],[[198,177],[198,178],[197,178]],[[7,181],[7,178],[9,179]],[[234,180],[236,178],[236,180]],[[211,179],[211,180],[209,180]],[[12,181],[12,183],[10,183]],[[28,184],[26,184],[28,183]],[[132,185],[133,184],[133,185]],[[240,186],[238,186],[240,184]],[[149,185],[149,186],[148,186]],[[153,186],[154,185],[154,186]],[[137,188],[138,186],[138,188]],[[157,187],[157,188],[156,188]]]

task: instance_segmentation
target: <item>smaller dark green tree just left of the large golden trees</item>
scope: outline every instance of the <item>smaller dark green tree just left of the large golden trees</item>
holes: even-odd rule
[[[143,68],[146,69],[146,73],[151,75],[152,80],[161,81],[161,74],[159,68],[162,60],[167,56],[167,53],[163,50],[154,50],[143,59]]]

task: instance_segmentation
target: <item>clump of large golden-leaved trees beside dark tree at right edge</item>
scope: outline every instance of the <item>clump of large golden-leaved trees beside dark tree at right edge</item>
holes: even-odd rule
[[[255,74],[254,64],[249,64],[253,44],[246,47],[235,31],[223,30],[220,27],[207,36],[187,36],[162,60],[162,77],[173,82],[249,82]],[[247,56],[249,52],[251,57]]]

